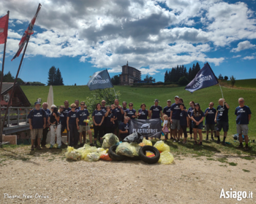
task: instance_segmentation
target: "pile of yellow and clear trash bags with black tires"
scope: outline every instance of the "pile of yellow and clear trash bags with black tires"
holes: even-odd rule
[[[113,133],[108,133],[103,137],[104,141],[101,148],[89,146],[88,144],[85,144],[79,149],[68,146],[65,155],[67,160],[85,160],[89,162],[96,162],[100,159],[106,161],[120,161],[126,158],[143,160],[148,164],[156,162],[160,164],[170,164],[173,162],[174,157],[173,154],[170,153],[170,146],[165,144],[164,141],[157,141],[153,146],[150,140],[142,139],[141,137],[142,136],[137,135],[137,133],[132,133],[132,135],[129,136],[129,142],[120,142],[117,136]],[[109,149],[110,152],[108,152]],[[147,157],[147,152],[151,152],[153,156]]]

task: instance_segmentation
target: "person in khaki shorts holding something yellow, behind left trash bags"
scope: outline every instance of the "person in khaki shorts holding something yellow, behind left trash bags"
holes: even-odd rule
[[[84,120],[90,119],[89,111],[85,109],[85,106],[86,106],[86,103],[84,101],[81,101],[80,110],[76,114],[76,125],[79,133],[80,146],[83,146],[84,144],[86,144],[86,132],[89,134],[90,145],[93,146],[94,144],[92,143],[90,126],[87,122],[84,122]],[[83,136],[83,141],[82,141],[82,136]]]

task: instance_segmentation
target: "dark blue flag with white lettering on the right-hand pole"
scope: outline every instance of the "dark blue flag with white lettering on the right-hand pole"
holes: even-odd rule
[[[206,87],[211,87],[217,85],[218,79],[214,74],[214,71],[211,70],[211,67],[206,63],[203,68],[198,71],[195,78],[185,87],[185,90],[193,93],[195,90],[200,90]]]

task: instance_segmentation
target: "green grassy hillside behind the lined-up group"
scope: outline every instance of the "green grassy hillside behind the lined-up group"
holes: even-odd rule
[[[256,80],[255,80],[256,81]],[[22,89],[26,96],[29,98],[31,104],[37,98],[42,98],[42,101],[47,101],[49,87],[34,87],[34,86],[22,86]],[[146,103],[149,109],[154,104],[154,99],[157,98],[162,107],[166,106],[167,99],[174,102],[174,96],[178,95],[184,99],[185,106],[189,108],[189,101],[195,101],[200,103],[201,109],[205,110],[208,107],[209,102],[214,102],[214,107],[217,108],[219,98],[222,98],[222,94],[219,90],[219,86],[208,87],[203,90],[198,90],[195,93],[189,93],[184,90],[184,87],[129,87],[129,86],[115,86],[116,91],[121,93],[121,101],[127,101],[127,103],[134,103],[135,109],[140,109],[141,103]],[[230,119],[230,131],[229,134],[236,133],[236,116],[234,114],[236,107],[238,106],[238,98],[243,97],[246,101],[246,105],[250,107],[252,111],[252,119],[249,125],[249,135],[256,136],[256,93],[255,90],[242,90],[242,89],[230,89],[222,87],[223,95],[228,104],[230,104],[229,119]],[[79,101],[85,101],[91,92],[87,86],[54,86],[54,103],[56,106],[64,104],[65,100],[73,103],[76,99]],[[100,101],[99,101],[100,102]]]

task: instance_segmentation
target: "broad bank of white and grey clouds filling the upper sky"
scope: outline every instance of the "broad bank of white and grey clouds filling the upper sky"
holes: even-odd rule
[[[159,1],[169,9],[160,7]],[[79,56],[80,62],[88,60],[97,68],[110,68],[110,72],[121,71],[129,60],[143,74],[156,74],[196,60],[219,66],[225,57],[210,58],[209,52],[238,40],[244,42],[233,49],[236,52],[255,47],[245,43],[256,39],[256,27],[252,11],[242,2],[159,1],[42,0],[34,28],[37,33],[31,36],[26,53],[29,57]],[[10,23],[25,26],[37,9],[34,2],[0,1],[0,15],[10,9]],[[199,23],[203,26],[192,28]],[[10,29],[8,55],[17,52],[22,32]]]

